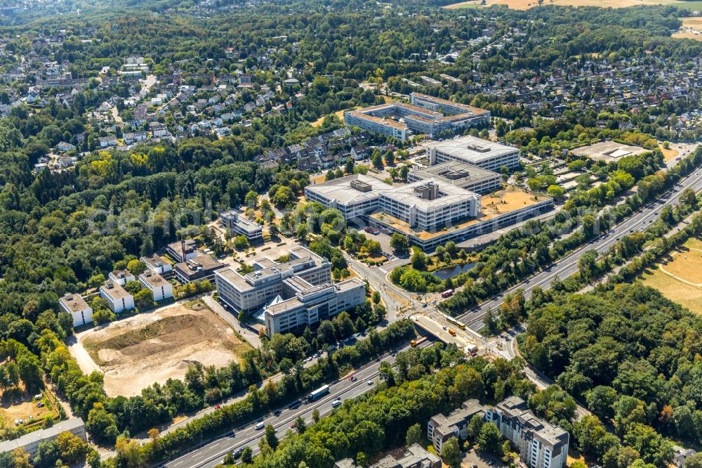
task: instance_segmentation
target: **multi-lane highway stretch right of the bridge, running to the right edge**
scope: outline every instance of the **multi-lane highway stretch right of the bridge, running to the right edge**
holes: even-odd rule
[[[702,190],[702,169],[697,169],[687,176],[687,178],[683,178],[671,189],[672,191],[665,193],[654,202],[650,202],[644,208],[640,209],[640,211],[609,230],[609,232],[603,233],[599,238],[583,245],[583,247],[571,252],[562,259],[558,259],[547,270],[539,271],[530,278],[527,278],[527,280],[511,287],[506,292],[498,294],[496,297],[483,302],[479,306],[475,306],[470,311],[458,316],[458,320],[461,320],[472,330],[482,330],[485,326],[483,318],[488,309],[491,308],[493,311],[497,311],[503,302],[505,294],[515,292],[521,288],[524,290],[524,295],[529,298],[531,296],[531,290],[533,290],[534,287],[538,286],[545,290],[550,287],[556,277],[561,280],[568,278],[578,271],[578,259],[580,259],[585,252],[596,249],[598,253],[602,254],[607,252],[607,250],[616,244],[624,235],[644,230],[650,226],[651,223],[656,221],[658,214],[660,214],[661,209],[665,205],[677,203],[680,194],[686,188],[692,188],[695,192]]]

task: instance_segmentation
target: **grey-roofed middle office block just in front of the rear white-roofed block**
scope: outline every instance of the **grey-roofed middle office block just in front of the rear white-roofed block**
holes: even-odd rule
[[[443,162],[411,171],[407,181],[418,182],[431,178],[475,193],[489,193],[502,187],[500,174],[462,161]]]

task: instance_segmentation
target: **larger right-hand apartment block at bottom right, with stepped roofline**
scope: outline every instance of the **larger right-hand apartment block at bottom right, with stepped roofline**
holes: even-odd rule
[[[486,411],[485,420],[495,424],[502,435],[519,450],[529,468],[562,468],[566,464],[568,431],[536,417],[527,403],[510,396]]]

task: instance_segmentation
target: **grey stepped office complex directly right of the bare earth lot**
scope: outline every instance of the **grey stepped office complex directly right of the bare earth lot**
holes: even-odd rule
[[[289,252],[279,264],[262,257],[253,271],[241,275],[233,268],[215,273],[220,299],[234,311],[253,313],[263,308],[267,333],[293,332],[363,304],[366,287],[352,278],[331,282],[331,264],[305,247]]]

